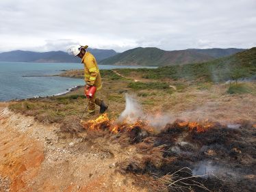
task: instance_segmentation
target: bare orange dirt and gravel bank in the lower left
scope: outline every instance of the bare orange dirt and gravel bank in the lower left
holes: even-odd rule
[[[72,139],[58,130],[7,108],[1,112],[0,191],[141,191],[114,172],[132,148],[108,146],[104,138]]]

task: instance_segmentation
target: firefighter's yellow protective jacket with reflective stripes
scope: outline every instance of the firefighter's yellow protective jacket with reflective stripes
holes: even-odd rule
[[[97,87],[97,90],[100,90],[102,87],[101,74],[95,57],[92,53],[86,51],[86,54],[81,59],[81,63],[84,64],[84,80],[86,84],[94,85]]]

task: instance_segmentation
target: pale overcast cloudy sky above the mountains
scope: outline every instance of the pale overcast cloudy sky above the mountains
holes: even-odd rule
[[[1,0],[0,52],[256,46],[255,0]]]

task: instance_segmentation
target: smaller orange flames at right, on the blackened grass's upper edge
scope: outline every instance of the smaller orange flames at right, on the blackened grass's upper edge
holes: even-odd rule
[[[197,133],[202,133],[207,131],[209,128],[213,128],[214,124],[211,122],[178,122],[179,127],[185,128],[188,127],[189,131],[196,131]]]

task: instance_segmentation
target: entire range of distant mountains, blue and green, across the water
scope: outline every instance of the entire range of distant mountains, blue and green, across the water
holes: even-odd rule
[[[194,64],[220,57],[233,55],[245,49],[185,49],[164,51],[155,47],[137,47],[123,53],[110,49],[88,49],[99,64],[126,66],[173,66],[177,64]],[[9,51],[0,53],[0,61],[10,62],[42,62],[42,63],[78,63],[78,57],[68,55],[64,51],[33,52]]]

